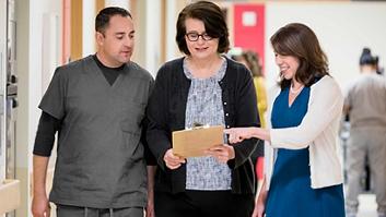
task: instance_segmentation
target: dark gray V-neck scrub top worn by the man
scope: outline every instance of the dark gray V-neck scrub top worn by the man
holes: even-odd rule
[[[128,63],[113,85],[92,56],[60,67],[39,108],[62,120],[50,201],[96,208],[143,207],[141,122],[153,86]]]

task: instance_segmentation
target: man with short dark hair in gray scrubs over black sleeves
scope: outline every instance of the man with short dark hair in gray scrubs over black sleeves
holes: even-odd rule
[[[153,79],[130,61],[134,28],[128,11],[102,10],[95,31],[97,52],[57,68],[39,105],[35,217],[49,216],[49,202],[57,205],[58,217],[142,217],[147,206],[141,132]],[[58,154],[48,202],[45,180],[56,132]]]

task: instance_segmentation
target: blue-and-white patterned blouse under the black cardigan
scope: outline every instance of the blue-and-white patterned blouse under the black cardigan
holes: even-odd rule
[[[226,60],[224,59],[220,70],[214,75],[208,79],[195,79],[187,68],[186,59],[184,59],[184,73],[191,80],[186,106],[185,128],[192,128],[197,123],[225,125],[222,91],[219,85],[225,71]],[[210,156],[190,157],[187,158],[186,167],[187,190],[231,190],[231,169],[227,164],[219,162]]]

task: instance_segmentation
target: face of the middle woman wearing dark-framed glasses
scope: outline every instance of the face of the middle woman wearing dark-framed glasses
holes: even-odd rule
[[[219,38],[212,38],[207,35],[202,21],[187,19],[185,26],[185,40],[191,58],[206,59],[218,55]]]

